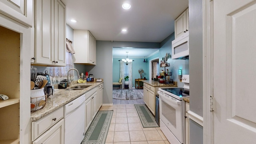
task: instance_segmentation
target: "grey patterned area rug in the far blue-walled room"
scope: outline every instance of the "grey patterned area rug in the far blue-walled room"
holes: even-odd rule
[[[143,89],[115,89],[113,98],[118,100],[137,100],[143,98]]]

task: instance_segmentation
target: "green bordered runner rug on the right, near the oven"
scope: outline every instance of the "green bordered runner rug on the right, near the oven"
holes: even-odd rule
[[[156,123],[154,115],[150,112],[145,104],[134,104],[134,106],[138,112],[140,122],[142,123],[143,128],[159,127]]]

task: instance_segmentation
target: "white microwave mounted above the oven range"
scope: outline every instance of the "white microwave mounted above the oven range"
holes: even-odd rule
[[[189,32],[184,33],[182,36],[172,41],[172,59],[189,59]]]

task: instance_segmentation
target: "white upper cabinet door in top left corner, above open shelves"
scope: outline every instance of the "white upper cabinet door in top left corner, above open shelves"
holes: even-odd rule
[[[33,0],[0,0],[0,13],[32,27]]]

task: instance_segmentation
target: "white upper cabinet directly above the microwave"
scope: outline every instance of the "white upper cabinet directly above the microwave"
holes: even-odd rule
[[[188,32],[188,8],[174,22],[175,39]]]

